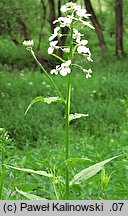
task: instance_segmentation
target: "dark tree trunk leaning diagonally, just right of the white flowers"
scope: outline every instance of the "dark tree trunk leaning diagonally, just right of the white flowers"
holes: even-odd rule
[[[92,4],[91,4],[91,1],[90,0],[84,0],[85,2],[85,7],[88,11],[88,13],[91,14],[91,21],[93,23],[93,26],[95,27],[95,30],[96,30],[96,34],[97,34],[97,37],[98,37],[98,40],[99,40],[99,44],[102,48],[106,47],[106,42],[105,42],[105,39],[104,39],[104,35],[103,35],[103,32],[102,32],[102,28],[99,24],[99,21],[97,19],[97,16],[95,15],[95,12],[94,12],[94,9],[92,7]]]

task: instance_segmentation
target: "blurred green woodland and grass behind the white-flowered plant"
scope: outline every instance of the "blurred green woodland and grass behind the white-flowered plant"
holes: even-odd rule
[[[27,116],[24,112],[36,96],[56,96],[49,81],[22,46],[34,40],[34,51],[40,63],[50,71],[57,63],[47,54],[53,21],[61,16],[66,0],[0,1],[0,127],[11,138],[7,161],[20,167],[46,169],[64,160],[65,123],[61,104],[36,104]],[[101,197],[127,199],[128,184],[128,0],[75,0],[92,15],[95,30],[83,28],[93,62],[82,57],[75,61],[92,68],[86,79],[78,69],[72,76],[72,113],[89,113],[87,119],[71,124],[71,157],[88,157],[93,163],[122,154],[107,165],[111,177]],[[65,44],[68,38],[60,41]],[[66,77],[53,77],[65,95]],[[88,164],[77,164],[73,173]],[[71,173],[72,175],[72,173]],[[22,178],[22,182],[21,182]],[[16,171],[7,174],[6,199],[21,199],[14,187],[51,198],[47,182]],[[42,185],[43,181],[43,187]],[[96,199],[100,175],[88,180],[72,199]],[[29,187],[26,185],[29,184]],[[37,189],[38,184],[38,189]],[[78,193],[79,191],[79,193]],[[52,197],[54,199],[54,197]]]

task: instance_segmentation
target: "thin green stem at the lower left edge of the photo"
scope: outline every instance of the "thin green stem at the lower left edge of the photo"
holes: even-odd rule
[[[5,149],[2,145],[2,159],[1,159],[1,185],[0,185],[0,200],[2,199],[2,192],[3,192],[3,183],[4,183],[4,173],[5,173]]]

